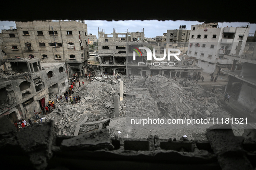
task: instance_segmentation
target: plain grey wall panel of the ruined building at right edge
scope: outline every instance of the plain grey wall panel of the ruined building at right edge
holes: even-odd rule
[[[232,98],[232,96],[231,96]],[[256,86],[243,82],[238,100],[247,109],[253,111],[256,109]]]

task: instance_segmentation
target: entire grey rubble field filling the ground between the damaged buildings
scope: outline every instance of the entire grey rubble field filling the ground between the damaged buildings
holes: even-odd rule
[[[119,117],[114,116],[114,94],[119,94],[119,84],[123,81],[124,99],[120,102]],[[78,84],[78,83],[77,83]],[[161,75],[136,77],[134,80],[123,78],[115,80],[112,76],[85,81],[85,86],[75,88],[75,96],[81,102],[72,105],[63,100],[56,102],[56,108],[42,121],[54,120],[59,135],[78,135],[107,128],[110,135],[125,138],[146,138],[159,135],[160,138],[205,140],[205,129],[136,129],[126,126],[126,117],[161,119],[207,119],[231,117],[221,106],[217,92],[206,91],[195,81],[169,79]],[[53,99],[53,98],[52,98]],[[51,99],[51,100],[52,100]],[[40,120],[37,120],[39,122]],[[119,132],[120,133],[119,133]],[[234,129],[235,135],[243,130]]]

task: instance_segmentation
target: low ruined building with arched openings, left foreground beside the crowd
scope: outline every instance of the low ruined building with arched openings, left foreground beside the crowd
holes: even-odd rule
[[[40,112],[51,96],[68,87],[65,63],[12,58],[1,60],[0,68],[0,117],[8,115],[12,122],[28,120],[34,109]]]

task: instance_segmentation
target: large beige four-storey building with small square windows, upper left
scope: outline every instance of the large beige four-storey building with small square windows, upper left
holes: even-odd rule
[[[66,63],[68,71],[83,73],[89,58],[84,20],[15,22],[16,29],[2,30],[3,58],[37,58],[44,63]]]

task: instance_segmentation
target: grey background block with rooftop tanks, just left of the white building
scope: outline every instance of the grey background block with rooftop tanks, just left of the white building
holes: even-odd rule
[[[186,25],[180,25],[179,29],[169,29],[166,34],[166,48],[181,50],[181,54],[187,54],[190,30]]]

